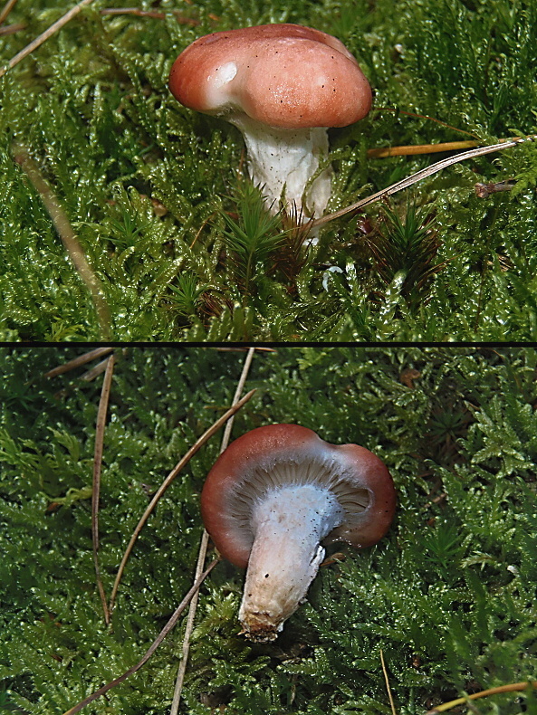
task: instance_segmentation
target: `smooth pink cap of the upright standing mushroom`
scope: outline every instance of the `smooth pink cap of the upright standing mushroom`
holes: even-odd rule
[[[200,37],[174,62],[169,89],[189,109],[281,129],[345,127],[371,107],[369,82],[345,46],[297,24]]]

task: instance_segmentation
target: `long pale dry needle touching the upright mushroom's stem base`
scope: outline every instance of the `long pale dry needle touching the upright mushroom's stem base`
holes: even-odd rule
[[[364,208],[365,206],[369,206],[370,204],[375,204],[377,201],[380,201],[387,196],[397,194],[398,191],[402,191],[403,189],[408,188],[408,186],[417,184],[418,181],[427,178],[427,176],[432,176],[438,171],[442,171],[442,169],[451,167],[453,164],[458,164],[459,161],[465,161],[465,159],[471,159],[474,157],[482,157],[484,156],[484,154],[491,154],[494,151],[501,151],[502,149],[516,147],[517,144],[522,144],[524,141],[534,141],[535,138],[537,138],[537,135],[532,135],[526,138],[509,139],[508,141],[502,141],[498,144],[491,144],[489,147],[470,149],[469,151],[464,151],[461,154],[457,154],[455,157],[448,157],[446,159],[442,159],[441,161],[437,161],[436,164],[431,164],[430,167],[421,169],[421,171],[417,171],[416,174],[407,176],[407,178],[401,179],[401,181],[398,181],[396,184],[388,186],[388,188],[384,188],[381,191],[378,191],[376,194],[371,194],[366,198],[362,198],[360,201],[357,201],[356,204],[351,204],[350,206],[341,208],[339,211],[336,211],[333,214],[328,214],[326,216],[318,218],[316,221],[313,222],[312,229],[315,229],[319,226],[323,226],[324,224],[329,224],[336,218],[340,218],[341,216],[350,214],[353,211],[358,211],[360,208]]]

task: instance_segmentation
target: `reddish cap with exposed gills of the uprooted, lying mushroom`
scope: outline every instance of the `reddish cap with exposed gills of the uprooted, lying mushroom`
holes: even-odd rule
[[[326,541],[372,546],[387,532],[396,506],[391,476],[358,444],[334,445],[298,424],[270,424],[231,443],[208,473],[201,494],[206,530],[222,556],[246,567],[254,543],[254,506],[280,487],[330,490],[344,511]]]

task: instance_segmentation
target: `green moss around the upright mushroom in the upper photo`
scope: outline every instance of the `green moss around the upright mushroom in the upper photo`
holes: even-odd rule
[[[26,27],[2,38],[1,62],[68,5],[19,0],[9,22]],[[273,270],[282,264],[277,252],[264,253],[254,282],[245,281],[237,279],[222,218],[238,213],[240,223],[256,210],[252,192],[238,204],[229,197],[242,138],[224,121],[182,108],[167,88],[171,62],[205,33],[293,22],[340,37],[368,75],[376,109],[331,130],[335,210],[432,160],[368,159],[368,148],[467,138],[427,117],[484,142],[535,131],[534,3],[403,0],[394,13],[391,0],[164,0],[160,17],[101,14],[110,6],[120,4],[95,0],[0,80],[1,337],[102,337],[40,196],[14,164],[17,141],[38,161],[81,239],[115,339],[535,339],[533,145],[451,167],[415,187],[416,209],[436,215],[442,265],[415,290],[397,276],[386,283],[355,218],[329,224],[291,273]],[[474,195],[476,181],[504,179],[517,180],[511,194]],[[405,195],[394,198],[400,222],[407,205]],[[373,207],[372,230],[379,221]],[[283,229],[274,226],[265,243],[277,243]],[[329,267],[340,273],[326,275]]]

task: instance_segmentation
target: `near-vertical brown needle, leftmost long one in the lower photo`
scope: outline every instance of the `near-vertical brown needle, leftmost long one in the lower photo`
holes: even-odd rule
[[[99,567],[99,495],[101,492],[101,466],[102,466],[102,445],[104,443],[104,428],[106,424],[106,414],[110,398],[110,386],[114,373],[114,356],[107,358],[106,372],[102,381],[101,399],[99,401],[99,411],[97,413],[97,425],[95,429],[95,453],[93,456],[93,488],[91,490],[91,540],[93,542],[93,561],[95,564],[95,576],[101,596],[104,620],[110,623],[110,612],[106,603],[104,586],[101,579],[101,568]]]

